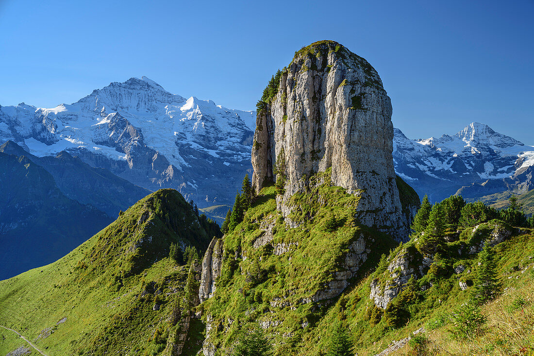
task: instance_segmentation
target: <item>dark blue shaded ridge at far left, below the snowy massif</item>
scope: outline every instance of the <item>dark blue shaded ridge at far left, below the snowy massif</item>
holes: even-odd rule
[[[0,280],[49,264],[150,191],[61,151],[0,146]]]

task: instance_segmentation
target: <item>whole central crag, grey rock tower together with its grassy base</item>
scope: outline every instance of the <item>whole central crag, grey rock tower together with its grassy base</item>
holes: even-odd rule
[[[318,320],[396,245],[391,236],[408,237],[419,197],[395,175],[392,135],[378,74],[336,42],[303,48],[273,76],[258,103],[257,197],[202,261],[205,356],[231,352],[248,323],[296,354],[289,340],[315,342]]]

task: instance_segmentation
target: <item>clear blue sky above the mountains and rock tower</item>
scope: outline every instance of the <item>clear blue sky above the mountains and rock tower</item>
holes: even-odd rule
[[[411,138],[486,123],[534,145],[534,1],[0,0],[0,104],[72,103],[148,76],[254,110],[296,50],[334,40],[379,72]]]

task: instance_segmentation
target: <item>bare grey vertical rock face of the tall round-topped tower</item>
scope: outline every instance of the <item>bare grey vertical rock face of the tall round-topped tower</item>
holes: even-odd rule
[[[283,204],[310,176],[332,168],[332,183],[361,197],[362,223],[384,231],[402,228],[391,110],[378,73],[362,57],[333,41],[297,51],[258,103],[256,191],[278,181],[285,189]]]

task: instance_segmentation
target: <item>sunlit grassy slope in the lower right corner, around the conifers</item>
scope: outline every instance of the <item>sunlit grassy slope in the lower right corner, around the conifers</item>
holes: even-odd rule
[[[477,257],[474,254],[459,256],[456,252],[458,246],[473,246],[492,233],[491,223],[486,224],[487,229],[480,227],[481,234],[472,233],[473,228],[466,228],[460,238],[460,243],[448,244],[450,254],[443,260],[437,276],[428,273],[428,267],[424,268],[426,274],[417,281],[418,292],[416,301],[403,305],[409,310],[410,315],[400,326],[392,327],[384,316],[382,309],[375,308],[370,300],[371,282],[375,278],[379,281],[391,278],[390,272],[377,271],[365,278],[354,290],[343,295],[335,307],[318,326],[317,335],[312,344],[321,344],[321,340],[327,339],[329,325],[340,315],[345,318],[351,330],[352,342],[355,344],[355,352],[358,355],[374,355],[380,353],[394,342],[402,338],[412,336],[411,333],[419,328],[426,329],[426,338],[433,340],[427,345],[426,354],[521,354],[522,347],[529,352],[534,352],[534,338],[532,338],[532,321],[534,321],[534,298],[532,298],[532,286],[534,285],[534,234],[526,230],[526,234],[514,235],[506,241],[493,247],[496,251],[498,262],[498,274],[502,282],[504,295],[494,303],[484,306],[485,315],[489,316],[490,322],[487,333],[468,340],[454,340],[447,332],[452,326],[450,314],[470,297],[472,287],[461,290],[459,282],[472,285],[475,280]],[[447,248],[446,247],[446,248]],[[469,250],[469,248],[467,248]],[[454,252],[453,252],[454,251]],[[414,266],[420,264],[421,256],[414,249],[414,241],[399,246],[389,255],[388,261],[397,256],[408,253]],[[464,265],[466,270],[455,273],[453,267]],[[416,268],[417,270],[417,268]],[[506,291],[508,290],[508,291]],[[519,290],[522,292],[518,293]],[[523,295],[525,308],[511,310],[514,297]],[[510,296],[513,296],[512,298]],[[530,299],[528,296],[531,296]],[[398,298],[398,297],[397,297]],[[390,303],[395,302],[395,298]],[[500,311],[496,311],[495,305],[500,305]],[[516,324],[516,331],[511,330],[510,324],[505,320],[512,319],[517,322],[516,312],[522,313],[524,320]],[[397,313],[398,314],[398,313]],[[497,320],[497,321],[496,321]],[[505,332],[508,329],[508,333]],[[488,340],[488,337],[491,341]],[[321,347],[316,347],[316,354],[320,354]],[[324,349],[323,349],[324,350]],[[392,354],[422,354],[410,346],[404,347],[397,353]]]

